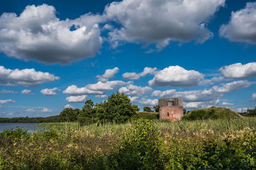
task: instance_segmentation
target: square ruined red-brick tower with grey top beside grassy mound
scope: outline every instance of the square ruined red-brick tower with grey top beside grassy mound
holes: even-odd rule
[[[182,98],[159,98],[159,118],[177,121],[183,117]]]

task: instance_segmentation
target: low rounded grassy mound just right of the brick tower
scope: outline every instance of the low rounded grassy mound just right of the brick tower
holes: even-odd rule
[[[209,107],[207,109],[195,109],[185,114],[183,120],[207,120],[207,119],[240,119],[240,114],[225,107]]]

